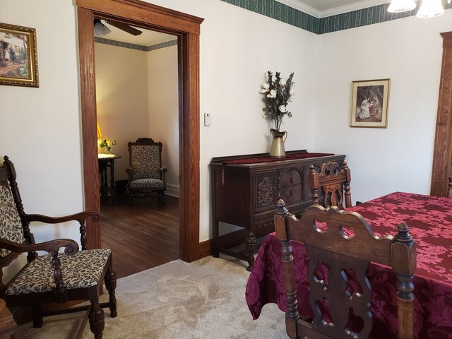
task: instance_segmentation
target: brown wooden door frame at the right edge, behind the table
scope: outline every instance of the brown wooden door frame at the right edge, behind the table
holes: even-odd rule
[[[452,32],[441,33],[443,60],[432,164],[432,196],[447,196],[452,158]]]

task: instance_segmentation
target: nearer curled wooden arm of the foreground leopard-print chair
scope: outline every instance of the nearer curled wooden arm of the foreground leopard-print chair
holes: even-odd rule
[[[37,244],[18,244],[17,242],[11,242],[10,240],[0,238],[0,247],[16,253],[31,251],[46,251],[48,253],[55,253],[58,252],[61,247],[64,247],[64,253],[69,256],[78,252],[78,244],[72,239],[54,239]]]

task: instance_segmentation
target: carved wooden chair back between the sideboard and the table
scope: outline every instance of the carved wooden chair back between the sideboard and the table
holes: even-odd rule
[[[316,172],[314,165],[309,167],[308,186],[312,193],[312,203],[319,204],[319,189],[323,190],[323,207],[337,206],[344,209],[352,207],[352,195],[350,194],[350,169],[344,160],[342,167],[337,162],[325,162]],[[345,193],[344,193],[345,192]]]

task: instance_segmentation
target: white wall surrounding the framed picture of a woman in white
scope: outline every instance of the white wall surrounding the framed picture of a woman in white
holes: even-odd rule
[[[320,36],[316,150],[343,153],[352,198],[429,194],[441,71],[452,11]],[[352,81],[391,78],[387,129],[350,128]]]

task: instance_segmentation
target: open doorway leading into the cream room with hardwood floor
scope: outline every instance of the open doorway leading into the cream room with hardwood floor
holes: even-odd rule
[[[112,20],[95,22],[98,134],[114,141],[114,163],[100,155],[105,169],[100,180],[107,186],[113,171],[116,182],[116,189],[101,189],[101,244],[112,249],[121,278],[179,258],[177,37]],[[141,137],[162,143],[165,204],[157,195],[129,201],[128,143]],[[107,170],[104,158],[113,168]]]

